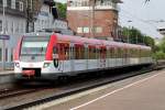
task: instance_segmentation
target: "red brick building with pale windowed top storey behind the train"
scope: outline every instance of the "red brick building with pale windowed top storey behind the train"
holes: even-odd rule
[[[118,40],[118,3],[122,1],[68,0],[68,25],[77,35]]]

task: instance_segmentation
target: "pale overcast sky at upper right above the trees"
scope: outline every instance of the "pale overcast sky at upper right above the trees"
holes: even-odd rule
[[[66,2],[66,0],[55,0]],[[156,31],[157,28],[165,28],[165,0],[122,0],[120,4],[119,23],[122,26],[135,26],[146,35],[152,37],[161,37]],[[132,22],[128,22],[132,21]]]

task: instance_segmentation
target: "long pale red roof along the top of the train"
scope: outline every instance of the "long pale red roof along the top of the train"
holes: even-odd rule
[[[57,40],[59,42],[72,42],[77,44],[90,44],[90,45],[107,45],[107,46],[114,46],[114,47],[128,47],[128,48],[143,48],[143,50],[151,50],[150,46],[145,45],[138,45],[138,44],[128,44],[122,42],[114,42],[114,41],[105,41],[105,40],[97,40],[97,38],[87,38],[81,36],[73,36],[73,35],[64,35],[59,33],[26,33],[24,36],[51,36],[53,34],[57,35]]]

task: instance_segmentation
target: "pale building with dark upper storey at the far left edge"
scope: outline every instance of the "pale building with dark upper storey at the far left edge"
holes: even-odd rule
[[[10,36],[4,41],[0,37],[0,68],[2,59],[6,64],[13,61],[13,48],[20,35],[25,33],[25,6],[24,0],[0,0],[0,35]]]

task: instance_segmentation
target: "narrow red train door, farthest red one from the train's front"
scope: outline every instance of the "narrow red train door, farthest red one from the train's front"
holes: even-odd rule
[[[100,48],[100,68],[106,68],[106,46],[101,46]]]

